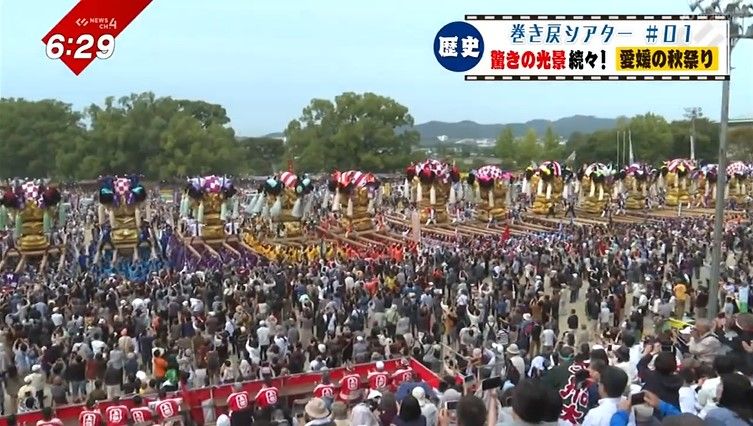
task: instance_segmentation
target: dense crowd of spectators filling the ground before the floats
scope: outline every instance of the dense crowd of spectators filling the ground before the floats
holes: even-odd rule
[[[180,227],[152,203],[160,236]],[[523,207],[512,209],[515,222],[536,225]],[[83,403],[82,424],[117,424],[96,417],[100,401],[139,408],[155,396],[162,406],[136,411],[188,422],[176,420],[171,392],[261,380],[257,395],[238,388],[217,424],[292,422],[272,378],[320,372],[332,392],[314,391],[310,426],[753,424],[747,221],[725,234],[714,309],[706,217],[541,222],[516,235],[426,228],[399,256],[351,246],[334,258],[201,267],[171,262],[165,239],[155,260],[103,269],[93,208],[76,206],[64,228],[77,261],[5,282],[6,416],[44,410],[43,424],[55,424],[56,407]],[[709,309],[719,315],[706,319]],[[408,357],[442,378],[438,389],[405,365],[369,391],[326,374]],[[117,416],[141,423],[133,410]]]

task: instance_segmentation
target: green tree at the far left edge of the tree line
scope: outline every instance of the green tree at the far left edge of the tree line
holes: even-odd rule
[[[57,175],[66,150],[87,142],[81,119],[69,104],[56,100],[0,99],[0,175]]]

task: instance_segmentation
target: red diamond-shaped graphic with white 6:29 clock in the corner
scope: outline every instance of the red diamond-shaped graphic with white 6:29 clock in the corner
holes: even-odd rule
[[[47,57],[79,75],[115,52],[115,38],[152,0],[81,0],[42,38]]]

